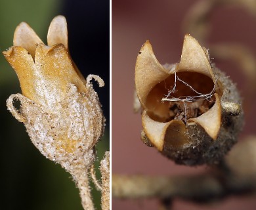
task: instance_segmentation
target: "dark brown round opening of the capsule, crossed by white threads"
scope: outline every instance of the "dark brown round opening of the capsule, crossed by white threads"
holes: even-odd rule
[[[167,122],[201,116],[215,103],[215,83],[197,72],[179,72],[158,83],[148,94],[148,116]]]

